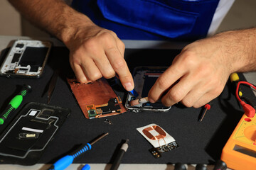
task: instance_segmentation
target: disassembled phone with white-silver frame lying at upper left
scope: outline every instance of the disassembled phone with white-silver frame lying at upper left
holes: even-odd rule
[[[1,64],[0,75],[4,77],[41,77],[51,47],[52,43],[48,41],[16,40]]]

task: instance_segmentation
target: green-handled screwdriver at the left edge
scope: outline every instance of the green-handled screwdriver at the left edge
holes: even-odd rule
[[[0,115],[0,125],[4,124],[4,120],[6,120],[11,113],[13,113],[18,106],[21,105],[21,102],[23,101],[23,97],[26,96],[28,92],[31,91],[31,86],[28,84],[24,84],[21,91],[9,102],[7,108],[4,110],[3,113]]]

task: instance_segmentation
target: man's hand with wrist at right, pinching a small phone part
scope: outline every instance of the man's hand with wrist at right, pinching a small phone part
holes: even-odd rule
[[[149,101],[198,108],[220,95],[232,72],[255,69],[255,36],[245,32],[221,33],[184,47],[149,91]]]

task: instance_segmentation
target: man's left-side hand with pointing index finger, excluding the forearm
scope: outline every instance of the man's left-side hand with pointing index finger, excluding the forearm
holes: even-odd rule
[[[70,65],[78,81],[87,83],[117,73],[124,89],[134,89],[132,74],[124,60],[124,43],[111,30],[95,26],[78,29],[67,43]]]

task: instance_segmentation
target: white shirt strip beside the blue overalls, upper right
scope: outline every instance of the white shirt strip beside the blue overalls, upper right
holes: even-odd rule
[[[207,36],[213,35],[218,27],[220,26],[221,21],[230,10],[235,0],[220,0],[216,8],[216,11],[213,16],[213,20],[210,23],[210,28],[208,30]]]

